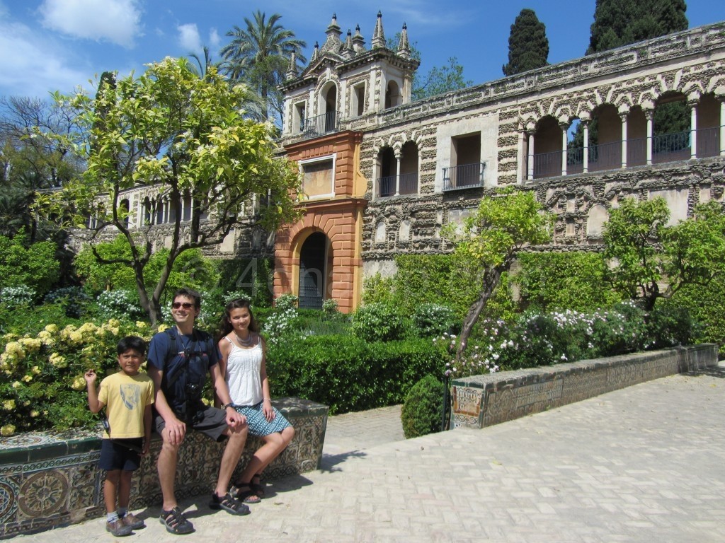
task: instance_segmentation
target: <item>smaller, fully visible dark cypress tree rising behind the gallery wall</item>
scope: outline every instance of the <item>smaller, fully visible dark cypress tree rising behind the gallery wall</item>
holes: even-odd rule
[[[546,26],[533,9],[522,9],[511,25],[508,37],[508,64],[503,75],[515,75],[548,64],[549,39]]]

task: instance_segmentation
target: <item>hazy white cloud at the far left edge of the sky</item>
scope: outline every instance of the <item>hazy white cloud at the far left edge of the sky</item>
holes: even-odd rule
[[[17,22],[0,21],[0,94],[48,98],[52,90],[68,93],[88,87],[91,70],[70,67],[65,51]],[[77,64],[77,62],[75,63]]]

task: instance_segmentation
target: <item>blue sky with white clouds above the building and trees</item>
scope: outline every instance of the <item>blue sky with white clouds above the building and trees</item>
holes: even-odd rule
[[[386,38],[407,25],[423,75],[455,56],[465,80],[486,83],[503,77],[510,26],[523,8],[546,25],[551,64],[584,55],[595,0],[0,0],[0,96],[90,90],[101,72],[138,75],[165,56],[203,58],[203,46],[217,61],[226,33],[245,28],[257,9],[281,14],[281,25],[307,42],[307,59],[334,13],[341,37],[360,25],[369,49],[379,9]],[[725,20],[725,0],[687,0],[687,18],[690,28]]]

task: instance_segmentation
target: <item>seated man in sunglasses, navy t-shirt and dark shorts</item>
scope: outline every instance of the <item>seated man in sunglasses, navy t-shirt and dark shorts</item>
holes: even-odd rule
[[[221,441],[228,439],[219,468],[210,508],[233,515],[247,515],[249,508],[229,494],[229,482],[247,440],[247,420],[234,408],[224,377],[219,371],[219,352],[210,334],[194,327],[201,308],[198,292],[177,290],[171,304],[175,327],[158,332],[149,343],[148,374],[156,394],[154,423],[161,435],[157,469],[163,495],[160,521],[172,534],[189,534],[194,526],[176,502],[174,479],[178,448],[187,429]],[[207,373],[215,392],[224,402],[222,409],[202,403]]]

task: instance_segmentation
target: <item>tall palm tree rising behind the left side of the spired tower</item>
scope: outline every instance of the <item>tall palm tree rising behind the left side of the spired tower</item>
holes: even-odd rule
[[[260,94],[263,119],[269,119],[270,106],[281,115],[281,96],[277,90],[289,67],[292,53],[305,63],[302,48],[307,44],[294,37],[292,30],[278,24],[278,13],[269,19],[259,10],[253,20],[244,18],[246,30],[235,26],[226,35],[232,38],[220,54],[224,59],[223,69],[231,80],[243,80]]]

